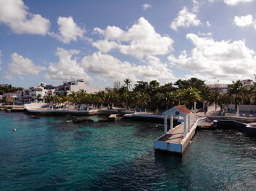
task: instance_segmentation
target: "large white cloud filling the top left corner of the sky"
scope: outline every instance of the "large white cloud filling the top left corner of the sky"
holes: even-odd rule
[[[17,34],[47,34],[50,21],[28,12],[28,9],[22,0],[0,0],[0,23]]]

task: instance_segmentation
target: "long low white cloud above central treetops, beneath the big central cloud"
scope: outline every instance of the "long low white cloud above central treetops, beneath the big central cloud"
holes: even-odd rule
[[[174,79],[172,71],[167,65],[160,62],[159,58],[149,56],[146,58],[148,65],[135,65],[127,61],[120,61],[112,55],[94,52],[82,60],[83,68],[91,74],[97,74],[101,81],[106,79],[126,79],[133,82],[138,79]]]

